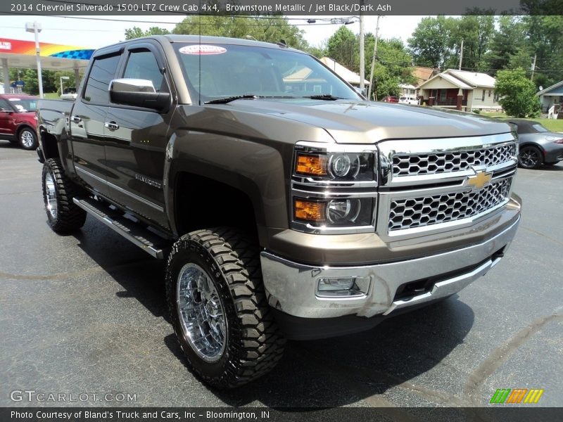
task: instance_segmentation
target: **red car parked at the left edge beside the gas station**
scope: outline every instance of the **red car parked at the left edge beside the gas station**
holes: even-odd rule
[[[0,139],[27,150],[37,148],[37,100],[30,95],[0,94]]]

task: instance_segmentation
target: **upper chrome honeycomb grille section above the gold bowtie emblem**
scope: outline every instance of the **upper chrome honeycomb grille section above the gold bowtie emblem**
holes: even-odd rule
[[[508,162],[516,155],[516,143],[472,151],[448,151],[429,154],[394,154],[393,177],[439,174],[468,170],[475,165],[487,167]]]

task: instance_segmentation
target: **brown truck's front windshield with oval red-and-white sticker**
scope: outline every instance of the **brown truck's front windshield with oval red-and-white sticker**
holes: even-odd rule
[[[360,99],[339,77],[304,53],[231,44],[174,45],[190,95],[200,103],[249,95]]]

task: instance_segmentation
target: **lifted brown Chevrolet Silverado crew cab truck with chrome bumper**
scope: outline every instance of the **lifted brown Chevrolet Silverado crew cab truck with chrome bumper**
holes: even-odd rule
[[[91,215],[167,260],[179,345],[218,387],[270,371],[286,339],[448,298],[519,223],[509,124],[365,101],[282,42],[108,46],[37,117],[51,228]]]

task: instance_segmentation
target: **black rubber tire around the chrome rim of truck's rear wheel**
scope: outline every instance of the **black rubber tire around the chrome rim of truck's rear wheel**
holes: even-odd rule
[[[65,174],[63,167],[61,165],[61,160],[58,158],[49,158],[45,161],[43,166],[42,175],[42,187],[43,187],[43,198],[45,198],[45,173],[49,172],[53,174],[53,179],[56,186],[56,198],[57,198],[57,217],[56,219],[47,218],[49,220],[49,225],[53,231],[57,233],[70,233],[71,231],[76,231],[80,227],[84,226],[86,221],[86,211],[78,207],[72,198],[75,196],[80,196],[83,193],[82,188],[77,186],[72,182]]]

